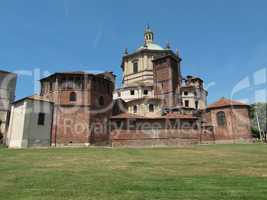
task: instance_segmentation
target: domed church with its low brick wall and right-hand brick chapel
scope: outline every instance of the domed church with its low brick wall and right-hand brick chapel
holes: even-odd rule
[[[149,26],[145,29],[144,44],[132,53],[125,50],[122,87],[114,93],[114,100],[123,102],[123,109],[110,119],[112,146],[251,140],[249,106],[231,100],[219,100],[212,104],[217,106],[208,106],[203,80],[183,76],[181,61],[178,50],[174,52],[169,43],[165,48],[155,43]]]

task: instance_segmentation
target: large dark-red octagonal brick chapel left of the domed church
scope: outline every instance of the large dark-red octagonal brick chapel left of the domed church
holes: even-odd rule
[[[103,127],[112,114],[113,90],[112,74],[56,73],[42,79],[41,96],[55,103],[52,145],[106,142]]]

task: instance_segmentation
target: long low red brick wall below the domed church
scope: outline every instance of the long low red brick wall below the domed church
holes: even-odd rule
[[[126,119],[113,119],[112,122],[120,122],[120,125],[123,123],[121,127],[111,131],[110,140],[113,147],[180,146],[209,143],[213,142],[214,138],[213,133],[202,133],[201,129],[195,127],[196,120],[178,120],[174,123],[168,119],[137,119],[134,128],[127,128],[126,124],[131,122]],[[161,128],[150,128],[158,125]]]

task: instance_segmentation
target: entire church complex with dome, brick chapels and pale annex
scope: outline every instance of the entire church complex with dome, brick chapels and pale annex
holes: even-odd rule
[[[181,63],[178,50],[173,51],[169,43],[157,44],[147,26],[143,44],[133,52],[126,49],[122,56],[120,88],[114,88],[112,72],[58,72],[44,77],[39,95],[13,104],[8,145],[162,147],[250,142],[249,106],[225,98],[207,105],[204,81],[184,76]],[[39,109],[33,109],[35,104]]]

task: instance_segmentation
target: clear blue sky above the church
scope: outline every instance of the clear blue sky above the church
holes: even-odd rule
[[[183,75],[204,79],[209,102],[263,101],[266,18],[264,0],[0,1],[0,68],[24,74],[17,98],[38,92],[38,70],[112,70],[119,86],[123,51],[142,44],[149,23],[157,43],[180,50]]]

